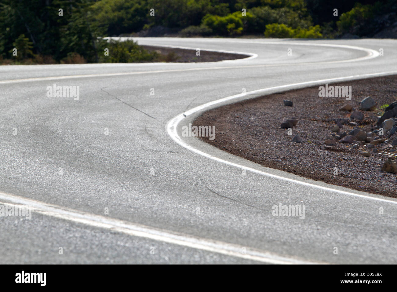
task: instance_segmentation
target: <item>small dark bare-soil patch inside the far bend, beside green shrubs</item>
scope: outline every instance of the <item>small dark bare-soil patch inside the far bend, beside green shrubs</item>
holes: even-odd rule
[[[222,60],[235,60],[247,58],[247,55],[229,54],[220,52],[211,52],[200,50],[200,56],[196,56],[196,50],[187,50],[180,48],[165,48],[160,46],[142,46],[149,52],[158,52],[161,56],[154,60],[154,62],[177,62],[177,63],[191,63],[191,62],[215,62]]]

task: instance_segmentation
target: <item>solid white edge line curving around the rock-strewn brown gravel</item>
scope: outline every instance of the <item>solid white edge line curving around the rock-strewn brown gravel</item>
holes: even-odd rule
[[[380,197],[373,197],[370,195],[360,195],[357,193],[351,193],[348,191],[341,191],[341,190],[337,190],[337,189],[333,189],[333,188],[328,188],[328,187],[324,187],[324,186],[318,186],[316,184],[310,184],[308,182],[303,182],[300,180],[294,180],[292,178],[286,178],[283,176],[278,176],[275,174],[270,174],[268,172],[263,172],[261,170],[257,170],[251,167],[247,167],[247,166],[243,166],[237,163],[233,163],[230,161],[226,161],[223,159],[220,159],[218,157],[212,156],[208,153],[202,152],[194,147],[192,147],[191,145],[188,145],[187,143],[185,143],[185,141],[183,141],[181,139],[181,137],[179,136],[178,132],[177,132],[177,127],[178,124],[184,120],[186,117],[190,116],[191,114],[195,114],[196,112],[202,111],[206,108],[210,108],[216,104],[220,104],[222,102],[226,102],[226,101],[231,101],[233,99],[237,99],[239,97],[245,97],[247,95],[258,95],[258,94],[263,94],[266,93],[268,91],[273,91],[273,90],[278,90],[278,89],[293,89],[294,87],[299,87],[302,85],[306,85],[306,86],[310,86],[310,85],[321,85],[323,83],[326,82],[335,82],[335,81],[346,81],[346,80],[350,80],[350,79],[358,79],[358,78],[369,78],[369,77],[376,77],[376,76],[380,76],[380,75],[391,75],[391,74],[397,74],[397,71],[391,71],[391,72],[380,72],[380,73],[370,73],[370,74],[361,74],[361,75],[352,75],[352,76],[346,76],[346,77],[338,77],[338,78],[331,78],[331,79],[322,79],[322,80],[315,80],[315,81],[306,81],[306,82],[300,82],[300,83],[293,83],[293,84],[286,84],[286,85],[280,85],[280,86],[274,86],[274,87],[268,87],[268,88],[263,88],[263,89],[258,89],[258,90],[254,90],[254,91],[249,91],[246,93],[241,93],[241,94],[237,94],[237,95],[231,95],[228,97],[225,97],[223,99],[218,99],[216,101],[211,101],[211,102],[207,102],[205,104],[202,104],[200,106],[196,106],[195,108],[192,108],[191,110],[188,110],[186,112],[183,112],[177,116],[175,116],[174,118],[172,118],[168,124],[167,124],[167,132],[168,135],[170,135],[172,137],[172,139],[177,142],[179,145],[181,145],[182,147],[189,149],[190,151],[193,151],[197,154],[200,154],[206,158],[212,159],[214,161],[218,161],[218,162],[222,162],[225,164],[229,164],[231,166],[235,166],[241,169],[245,169],[245,170],[249,170],[252,172],[255,172],[257,174],[261,174],[264,176],[269,176],[272,178],[277,178],[279,180],[285,180],[287,182],[293,182],[296,184],[301,184],[303,186],[308,186],[311,188],[317,188],[320,190],[326,190],[326,191],[332,191],[335,193],[341,193],[341,194],[345,194],[345,195],[351,195],[351,196],[355,196],[355,197],[361,197],[361,198],[365,198],[365,199],[371,199],[371,200],[375,200],[375,201],[382,201],[382,202],[387,202],[387,203],[392,203],[392,204],[397,204],[397,200],[393,200],[393,199],[383,199]],[[256,97],[256,96],[253,96]],[[253,98],[252,97],[252,98]]]

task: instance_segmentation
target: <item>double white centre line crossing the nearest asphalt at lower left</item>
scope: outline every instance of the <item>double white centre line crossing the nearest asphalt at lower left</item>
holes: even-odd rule
[[[223,255],[239,257],[252,261],[260,261],[270,264],[317,264],[315,262],[282,257],[266,251],[244,247],[237,244],[229,244],[227,242],[180,233],[177,234],[168,230],[160,230],[144,225],[133,224],[123,220],[85,213],[7,193],[0,193],[0,204],[15,205],[15,207],[29,207],[32,212],[45,216],[56,217],[96,228],[110,229],[112,231],[121,232],[131,236],[148,238],[151,240],[167,242],[169,244],[176,244],[214,253],[221,253]],[[243,253],[243,248],[245,248],[245,253]]]

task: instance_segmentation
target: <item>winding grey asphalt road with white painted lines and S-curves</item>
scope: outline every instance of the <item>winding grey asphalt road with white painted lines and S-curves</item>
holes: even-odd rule
[[[0,217],[0,263],[397,262],[397,200],[181,137],[221,104],[397,73],[397,40],[137,41],[247,58],[1,66],[0,204],[34,212]],[[54,83],[79,100],[47,97]],[[304,205],[304,219],[273,216],[279,203]]]

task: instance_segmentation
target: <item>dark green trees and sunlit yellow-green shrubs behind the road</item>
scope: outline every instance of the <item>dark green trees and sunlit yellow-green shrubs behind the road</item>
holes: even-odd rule
[[[119,35],[372,37],[396,11],[395,0],[0,0],[0,64],[167,60],[102,39]]]

